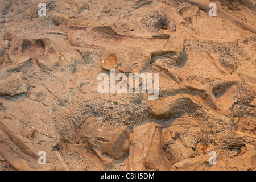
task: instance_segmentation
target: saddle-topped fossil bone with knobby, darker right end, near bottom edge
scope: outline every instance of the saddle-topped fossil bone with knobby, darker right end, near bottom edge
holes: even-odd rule
[[[77,134],[76,143],[69,144],[67,151],[76,152],[90,160],[97,170],[114,169],[114,162],[122,162],[129,152],[129,133],[124,127],[105,130],[94,117],[86,121]]]

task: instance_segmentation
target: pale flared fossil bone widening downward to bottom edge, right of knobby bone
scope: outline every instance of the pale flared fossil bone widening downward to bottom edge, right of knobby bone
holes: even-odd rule
[[[131,137],[128,170],[169,170],[170,161],[161,146],[161,126],[148,123],[136,127]]]

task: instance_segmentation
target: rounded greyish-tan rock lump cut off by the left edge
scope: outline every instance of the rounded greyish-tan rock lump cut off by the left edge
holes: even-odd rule
[[[13,73],[0,81],[0,94],[2,96],[15,96],[27,92],[28,84],[22,72]]]

